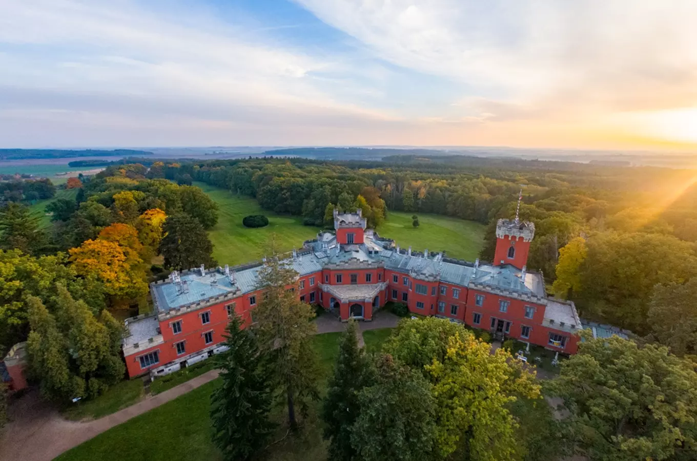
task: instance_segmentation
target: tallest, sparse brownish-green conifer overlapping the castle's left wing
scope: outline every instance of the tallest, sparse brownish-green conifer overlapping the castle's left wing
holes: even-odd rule
[[[258,321],[260,347],[268,352],[279,398],[288,405],[291,429],[298,428],[296,406],[307,414],[308,399],[319,398],[319,366],[312,349],[316,325],[314,309],[298,299],[298,272],[276,251],[275,236],[269,244],[270,256],[259,270],[261,299],[254,308]]]

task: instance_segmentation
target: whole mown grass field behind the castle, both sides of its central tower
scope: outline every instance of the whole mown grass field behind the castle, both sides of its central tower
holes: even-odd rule
[[[218,204],[218,224],[209,232],[213,242],[213,256],[218,263],[236,265],[261,258],[271,233],[276,233],[282,250],[302,247],[302,242],[316,236],[319,228],[302,225],[302,217],[279,215],[262,210],[254,198],[237,196],[231,192],[195,183]],[[250,229],[242,225],[247,214],[264,214],[269,225]],[[484,245],[484,226],[473,221],[420,214],[420,226],[414,228],[411,215],[406,212],[389,212],[388,219],[378,228],[383,237],[395,239],[406,248],[414,250],[447,251],[447,256],[475,260]]]

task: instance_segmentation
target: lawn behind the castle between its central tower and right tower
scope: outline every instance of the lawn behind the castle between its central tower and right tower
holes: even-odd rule
[[[412,226],[414,213],[388,212],[378,227],[381,237],[395,240],[401,248],[411,245],[416,251],[445,251],[451,258],[473,261],[484,247],[484,224],[440,214],[418,214],[420,226]]]

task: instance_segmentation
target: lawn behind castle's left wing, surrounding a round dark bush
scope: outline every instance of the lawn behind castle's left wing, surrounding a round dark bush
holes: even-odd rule
[[[277,235],[281,251],[291,251],[302,247],[302,242],[315,238],[319,232],[319,228],[303,226],[302,217],[262,210],[254,198],[238,196],[204,182],[196,182],[194,185],[201,187],[219,207],[218,222],[208,236],[213,242],[213,257],[221,265],[260,260],[271,233]],[[242,219],[248,214],[265,215],[268,217],[268,226],[246,228]]]

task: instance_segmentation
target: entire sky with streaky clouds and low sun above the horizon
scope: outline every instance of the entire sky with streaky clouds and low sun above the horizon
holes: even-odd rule
[[[695,0],[0,0],[0,147],[697,152]]]

